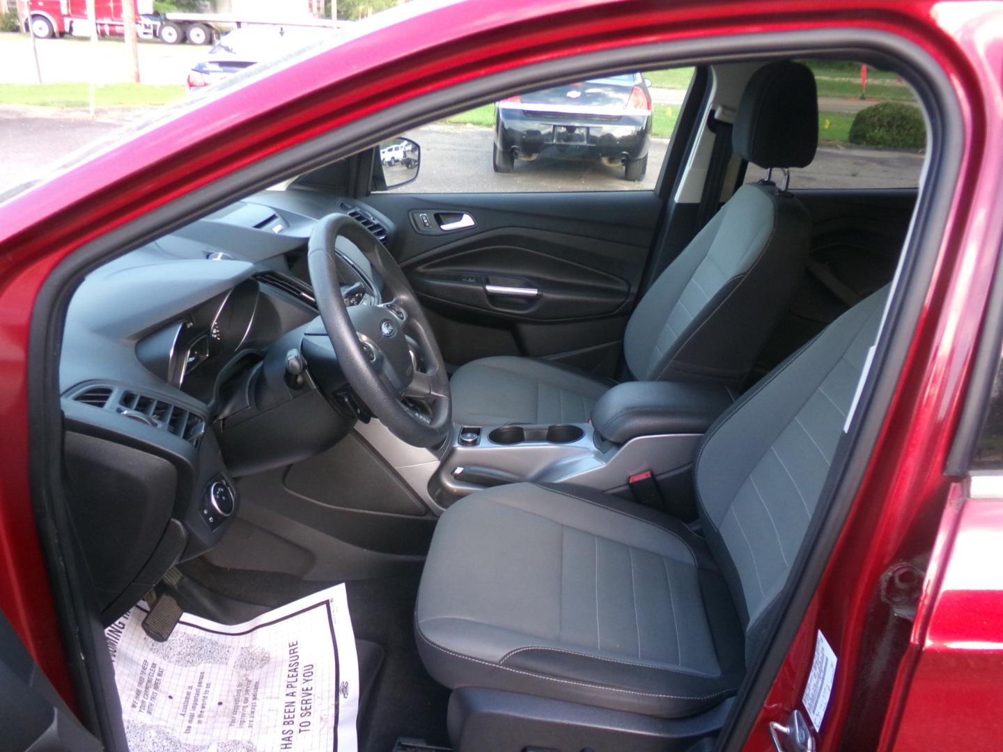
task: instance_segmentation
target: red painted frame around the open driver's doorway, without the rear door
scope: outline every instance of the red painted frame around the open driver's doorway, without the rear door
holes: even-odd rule
[[[985,6],[967,3],[468,0],[358,36],[268,79],[141,133],[126,146],[0,207],[0,607],[64,695],[69,686],[28,480],[26,359],[32,307],[51,270],[89,241],[266,155],[419,94],[525,64],[630,44],[715,35],[861,28],[898,35],[947,73],[963,116],[965,151],[940,260],[871,465],[808,617],[770,692],[749,748],[766,749],[765,721],[796,707],[822,629],[840,658],[821,748],[847,722],[862,669],[855,626],[911,522],[943,505],[940,468],[956,425],[1003,213],[1000,39]],[[373,22],[373,24],[377,24]],[[365,26],[355,32],[361,33]],[[999,35],[998,35],[999,36]],[[332,71],[337,71],[332,73]],[[268,102],[262,105],[261,102]],[[244,118],[240,113],[256,114]],[[197,160],[192,154],[198,154]],[[198,163],[198,168],[193,163]],[[923,531],[924,533],[926,531]],[[848,579],[846,572],[859,573]]]

